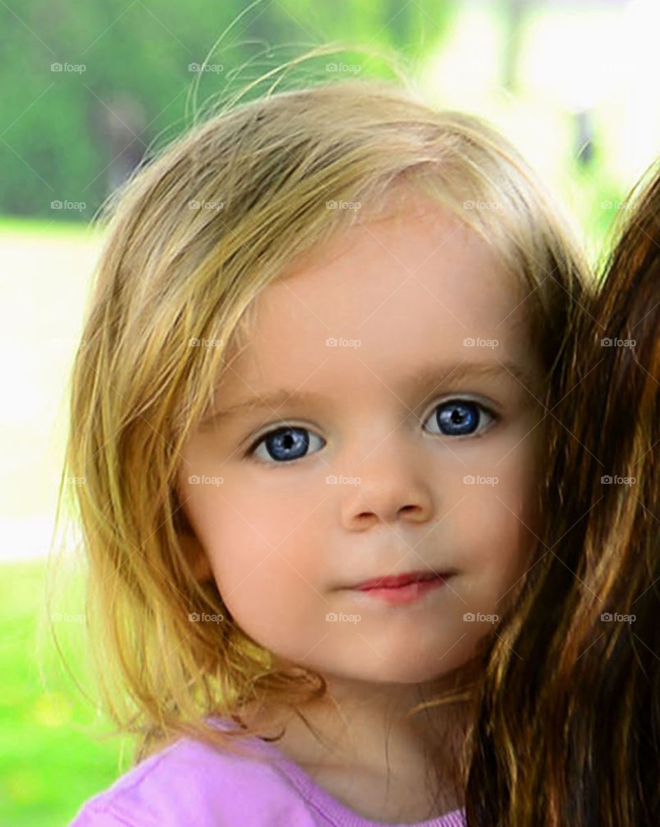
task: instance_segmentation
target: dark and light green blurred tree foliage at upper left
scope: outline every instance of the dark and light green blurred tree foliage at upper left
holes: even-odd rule
[[[215,68],[198,79],[197,105],[328,41],[422,60],[451,12],[447,0],[2,3],[0,213],[92,218],[150,149],[190,125],[190,66],[207,56]],[[347,55],[346,63],[364,70],[366,61]]]

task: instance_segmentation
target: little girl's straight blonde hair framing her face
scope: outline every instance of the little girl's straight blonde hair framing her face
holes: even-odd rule
[[[323,676],[274,663],[215,584],[194,576],[180,543],[181,451],[263,289],[334,233],[397,213],[420,190],[479,232],[527,290],[550,375],[585,284],[570,230],[497,131],[402,84],[347,79],[225,108],[110,205],[74,360],[65,474],[85,480],[74,495],[103,708],[137,736],[138,761],[182,735],[226,747],[207,718],[244,702],[302,706],[326,691]],[[361,208],[331,208],[340,201]],[[203,338],[216,347],[191,347]],[[225,620],[191,623],[191,613]]]

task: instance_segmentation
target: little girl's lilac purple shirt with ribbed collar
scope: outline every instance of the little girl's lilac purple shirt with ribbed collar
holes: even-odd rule
[[[211,719],[222,729],[231,720]],[[245,743],[264,762],[181,738],[84,802],[69,827],[382,827],[362,818],[289,761],[275,744]],[[402,827],[402,825],[399,825]],[[463,810],[407,827],[465,827]]]

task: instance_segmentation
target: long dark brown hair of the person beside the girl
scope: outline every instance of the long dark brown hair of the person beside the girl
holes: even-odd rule
[[[660,813],[660,166],[645,180],[557,382],[543,542],[490,653],[469,825]]]

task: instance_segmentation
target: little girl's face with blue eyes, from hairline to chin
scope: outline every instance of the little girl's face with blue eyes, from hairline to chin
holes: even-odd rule
[[[527,293],[474,232],[416,203],[265,289],[179,478],[188,542],[237,624],[343,679],[461,666],[532,538],[541,366]],[[351,588],[411,571],[453,574],[399,605]]]

